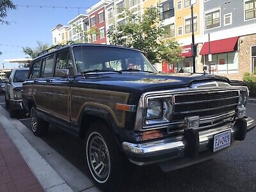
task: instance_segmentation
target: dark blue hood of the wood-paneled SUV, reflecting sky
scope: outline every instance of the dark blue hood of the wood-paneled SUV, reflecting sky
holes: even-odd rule
[[[125,72],[122,74],[92,74],[78,77],[79,84],[83,82],[91,88],[110,90],[129,90],[134,92],[145,92],[151,90],[167,90],[177,87],[188,87],[189,84],[202,81],[221,81],[230,83],[227,77],[209,74],[148,74],[144,72]],[[79,85],[79,86],[80,86]],[[96,87],[97,86],[97,87]]]

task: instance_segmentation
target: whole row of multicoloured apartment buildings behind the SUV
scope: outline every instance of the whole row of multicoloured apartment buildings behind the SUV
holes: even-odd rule
[[[191,3],[196,72],[202,72],[203,65],[208,66],[211,74],[231,79],[242,79],[244,72],[256,72],[256,0],[101,0],[86,10],[88,16],[82,14],[70,20],[69,28],[58,25],[52,29],[52,42],[63,42],[67,36],[68,40],[79,40],[72,28],[79,20],[76,24],[88,30],[89,42],[110,44],[108,31],[127,22],[125,10],[141,16],[146,8],[155,6],[160,12],[159,27],[168,30],[162,40],[177,40],[184,56],[178,63],[163,62],[157,69],[179,72],[182,68],[193,72]]]

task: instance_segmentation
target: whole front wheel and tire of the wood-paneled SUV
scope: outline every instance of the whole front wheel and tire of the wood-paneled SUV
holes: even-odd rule
[[[93,180],[104,190],[115,191],[129,180],[129,162],[120,152],[106,124],[95,122],[85,138],[86,160]]]

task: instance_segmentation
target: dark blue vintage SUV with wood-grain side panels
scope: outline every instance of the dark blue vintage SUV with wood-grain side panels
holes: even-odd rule
[[[125,47],[68,45],[35,58],[28,77],[22,100],[34,134],[53,124],[83,138],[103,189],[127,182],[131,163],[169,172],[225,152],[255,127],[243,82],[159,74],[143,52]]]

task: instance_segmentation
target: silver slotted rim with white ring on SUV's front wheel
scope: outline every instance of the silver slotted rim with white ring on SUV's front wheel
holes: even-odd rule
[[[106,182],[110,173],[109,150],[98,132],[92,132],[88,137],[86,157],[93,178],[99,183]]]

